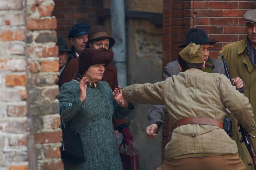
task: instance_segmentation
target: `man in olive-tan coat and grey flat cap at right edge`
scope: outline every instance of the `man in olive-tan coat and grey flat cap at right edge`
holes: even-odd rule
[[[249,98],[253,107],[254,116],[256,115],[256,9],[247,10],[243,19],[247,36],[237,42],[230,43],[223,47],[219,54],[224,55],[231,77],[241,77],[244,80],[244,95]],[[232,119],[233,120],[233,119]],[[255,117],[254,117],[255,120]],[[233,120],[234,122],[234,120]],[[234,123],[233,123],[234,124]],[[247,165],[252,164],[251,156],[244,145],[240,143],[241,134],[239,128],[233,126],[233,139],[237,142],[238,152],[243,162]],[[235,133],[237,132],[237,133]],[[251,132],[256,135],[256,130]],[[254,148],[256,138],[253,139]],[[248,167],[248,170],[254,169]]]

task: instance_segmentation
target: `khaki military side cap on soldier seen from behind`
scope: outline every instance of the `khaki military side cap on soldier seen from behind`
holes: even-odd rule
[[[199,44],[190,43],[179,54],[188,63],[198,64],[204,62],[204,52]]]

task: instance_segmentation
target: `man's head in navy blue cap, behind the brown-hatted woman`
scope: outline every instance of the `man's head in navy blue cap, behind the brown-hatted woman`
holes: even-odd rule
[[[76,53],[71,55],[71,58],[76,58],[80,55],[81,51],[85,48],[88,41],[88,31],[91,26],[87,23],[77,23],[73,25],[69,31],[69,41],[72,45],[71,50]]]

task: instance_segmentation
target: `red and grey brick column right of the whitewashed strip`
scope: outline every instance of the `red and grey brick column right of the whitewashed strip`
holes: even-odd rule
[[[27,0],[28,115],[34,131],[34,143],[30,143],[30,147],[35,147],[37,168],[41,170],[63,169],[59,150],[62,135],[59,102],[56,99],[59,62],[57,20],[52,16],[54,5],[53,0]]]

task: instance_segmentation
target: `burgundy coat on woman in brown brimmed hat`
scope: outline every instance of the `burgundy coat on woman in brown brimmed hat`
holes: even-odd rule
[[[67,63],[66,68],[64,70],[61,85],[71,81],[74,74],[79,71],[78,61],[79,57],[76,57]],[[115,88],[118,88],[116,68],[111,63],[105,67],[105,72],[103,74],[101,81],[108,82],[108,85],[110,86],[112,91],[114,91]],[[126,118],[123,118],[121,120],[114,120],[112,122],[115,129],[118,126],[127,123]]]

